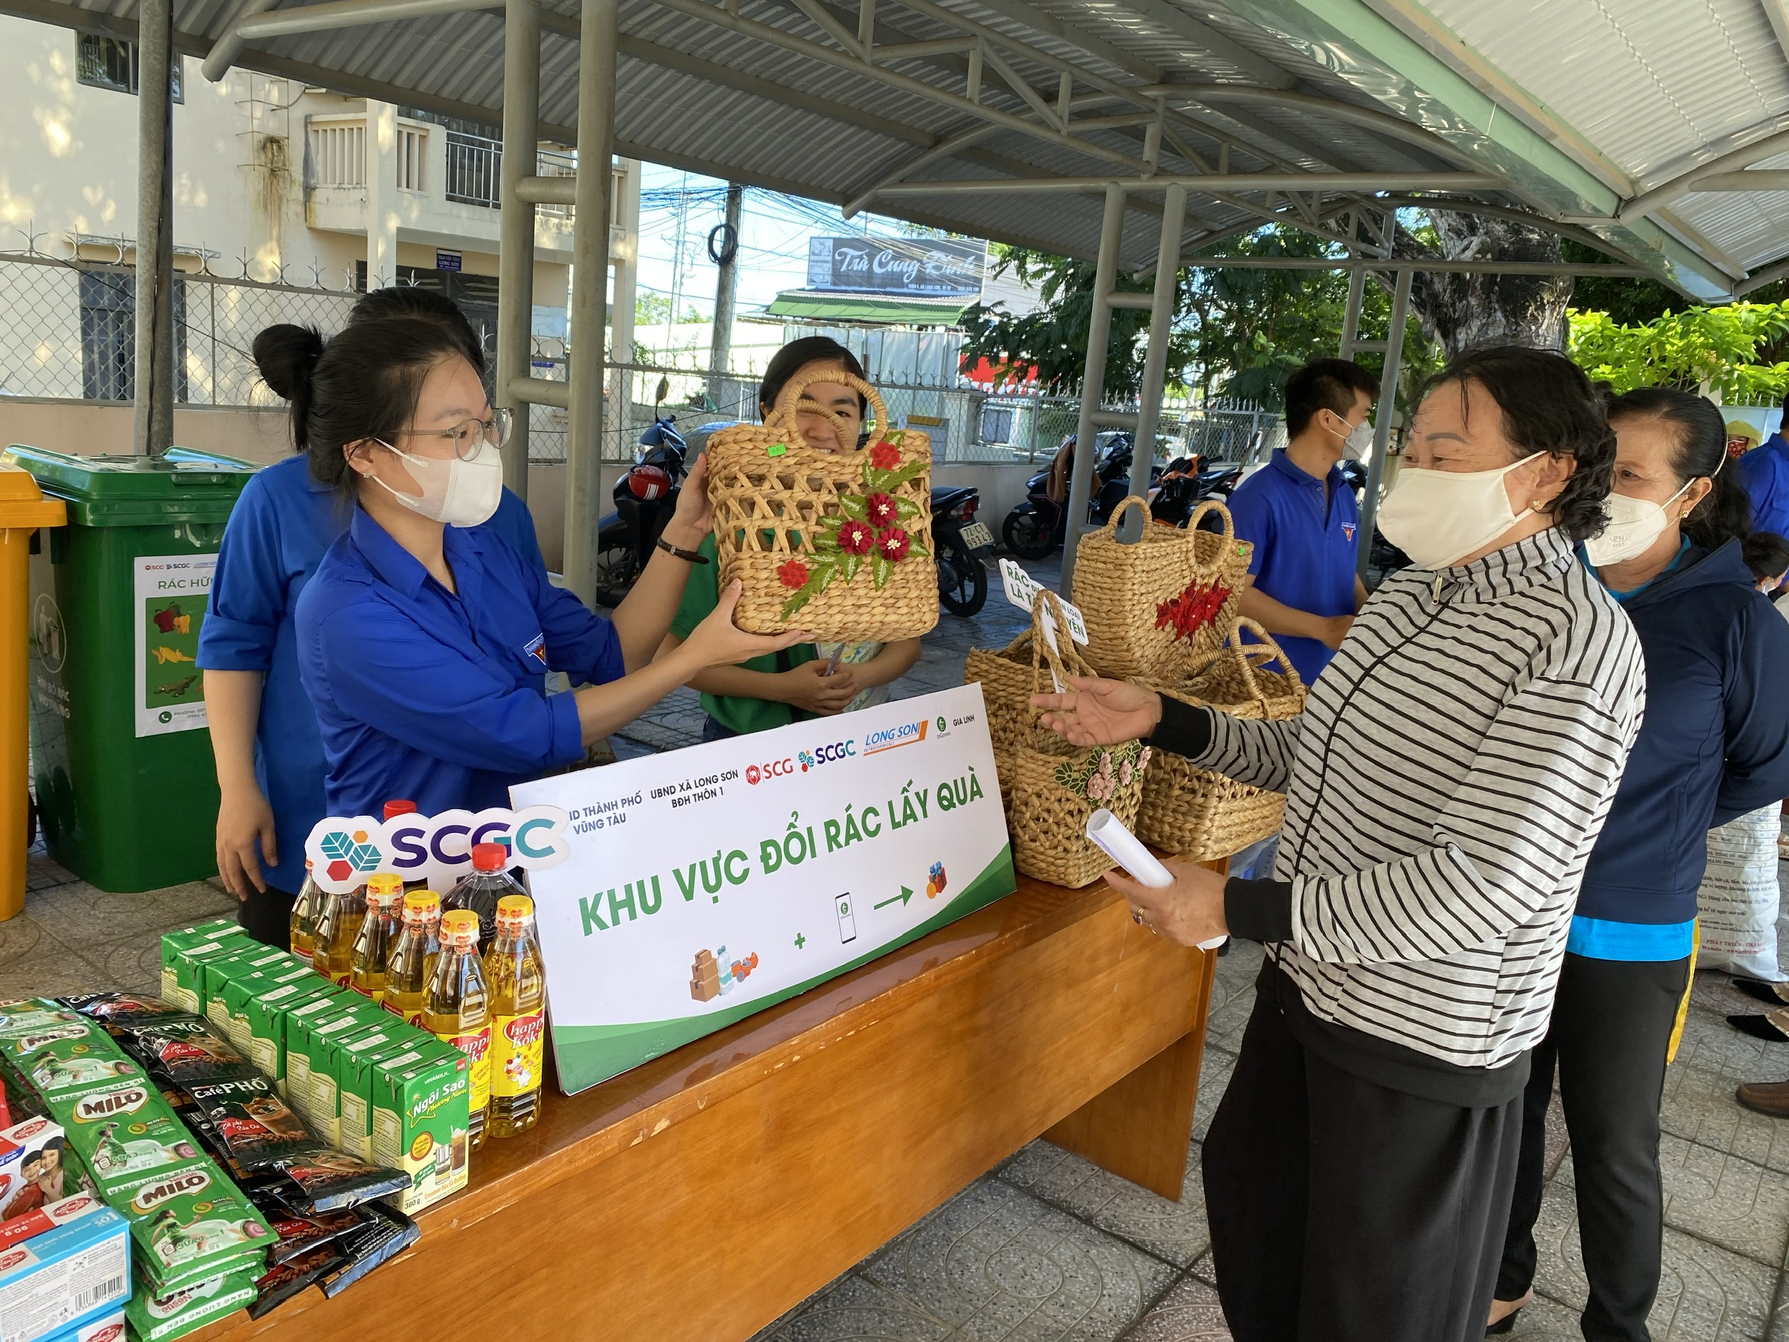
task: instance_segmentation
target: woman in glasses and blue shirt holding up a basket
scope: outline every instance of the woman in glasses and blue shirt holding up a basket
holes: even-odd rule
[[[440,324],[365,322],[327,345],[279,326],[254,349],[268,385],[293,388],[293,437],[313,474],[352,499],[297,607],[331,814],[377,814],[394,796],[422,814],[508,805],[512,784],[581,760],[701,669],[801,639],[737,630],[733,585],[653,662],[712,526],[705,460],[610,623],[485,526],[506,415]],[[547,671],[589,685],[549,698]]]

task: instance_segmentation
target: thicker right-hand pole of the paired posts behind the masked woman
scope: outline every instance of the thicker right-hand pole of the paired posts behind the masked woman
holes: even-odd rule
[[[610,154],[621,0],[583,0],[578,50],[578,202],[572,220],[571,383],[565,435],[565,585],[596,605],[596,524],[603,515],[603,327],[608,308]]]

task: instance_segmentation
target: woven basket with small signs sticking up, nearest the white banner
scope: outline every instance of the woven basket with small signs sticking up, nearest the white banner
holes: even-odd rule
[[[1045,598],[1056,599],[1050,592],[1039,592],[1039,608]],[[1056,612],[1056,621],[1066,639],[1061,610]],[[1043,675],[1045,662],[1063,684],[1073,675],[1041,633],[1032,637],[1030,655],[1034,692],[1054,689]],[[1088,816],[1107,807],[1125,825],[1136,825],[1150,750],[1141,741],[1072,746],[1036,723],[1032,710],[1032,730],[1011,755],[1007,830],[1013,836],[1013,862],[1038,880],[1090,886],[1111,870],[1113,859],[1088,839]]]

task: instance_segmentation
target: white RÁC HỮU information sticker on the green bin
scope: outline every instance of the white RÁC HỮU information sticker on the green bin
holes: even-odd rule
[[[206,725],[199,628],[211,601],[216,555],[140,555],[136,560],[136,734]]]

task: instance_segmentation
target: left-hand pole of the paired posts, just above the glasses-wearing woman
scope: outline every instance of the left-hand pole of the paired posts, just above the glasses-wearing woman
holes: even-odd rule
[[[515,419],[503,449],[503,483],[528,499],[530,406],[512,383],[533,369],[535,208],[517,183],[535,174],[540,141],[540,2],[503,11],[503,168],[497,183],[497,404]]]

